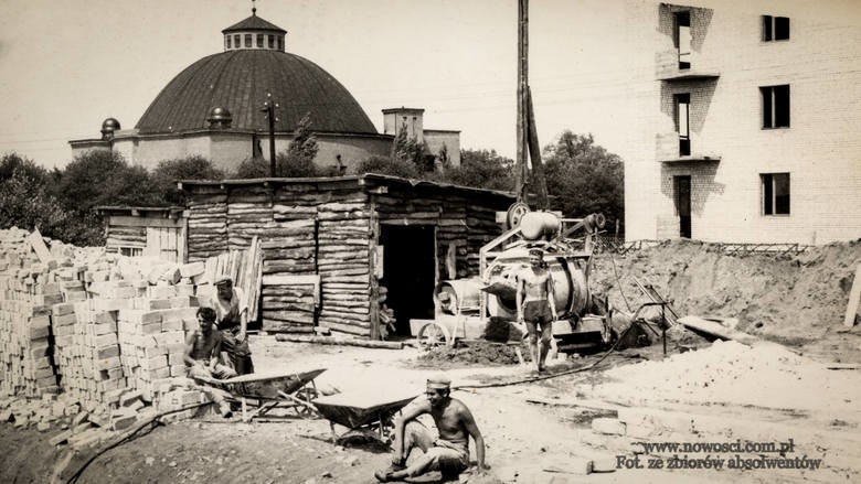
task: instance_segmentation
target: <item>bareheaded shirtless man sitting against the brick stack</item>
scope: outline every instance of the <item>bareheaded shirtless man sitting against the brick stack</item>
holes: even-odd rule
[[[185,353],[182,359],[189,367],[189,376],[204,384],[213,379],[236,376],[236,372],[233,368],[219,363],[221,358],[221,333],[213,329],[215,310],[212,308],[198,309],[198,324],[200,324],[200,327],[189,333],[185,338]],[[201,389],[219,406],[221,415],[230,417],[231,408],[225,401],[225,397],[228,395],[226,391],[209,386],[204,386]]]

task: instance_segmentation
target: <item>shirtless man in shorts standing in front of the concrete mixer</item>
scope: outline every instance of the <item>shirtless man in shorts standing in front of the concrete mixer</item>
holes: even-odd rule
[[[544,263],[544,251],[529,249],[530,267],[518,272],[517,310],[518,322],[527,323],[529,349],[535,370],[544,370],[544,361],[553,338],[553,321],[556,320],[556,302],[553,292],[553,277]],[[538,327],[541,326],[539,346]]]

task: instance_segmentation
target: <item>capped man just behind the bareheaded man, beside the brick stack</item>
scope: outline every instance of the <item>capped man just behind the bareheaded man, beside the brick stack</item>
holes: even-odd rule
[[[222,335],[222,348],[230,356],[231,365],[238,375],[254,373],[246,330],[248,306],[242,289],[233,287],[233,280],[221,277],[215,280],[215,295],[206,305],[215,309],[217,327]]]

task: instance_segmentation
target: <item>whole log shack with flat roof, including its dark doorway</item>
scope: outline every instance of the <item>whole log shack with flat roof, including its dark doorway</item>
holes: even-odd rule
[[[478,250],[502,233],[504,192],[364,174],[327,179],[181,181],[188,260],[263,248],[262,327],[380,336],[433,318],[435,284],[478,275]]]

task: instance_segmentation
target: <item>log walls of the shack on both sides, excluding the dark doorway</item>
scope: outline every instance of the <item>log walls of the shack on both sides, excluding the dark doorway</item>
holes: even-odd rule
[[[264,252],[264,331],[309,333],[317,324],[375,338],[381,291],[373,255],[380,224],[397,219],[436,226],[437,269],[444,279],[478,275],[478,259],[470,254],[501,233],[495,212],[509,201],[450,192],[325,181],[193,185],[187,190],[189,260],[245,248],[257,236]],[[312,275],[319,276],[319,304],[313,286],[265,282],[267,277]]]

